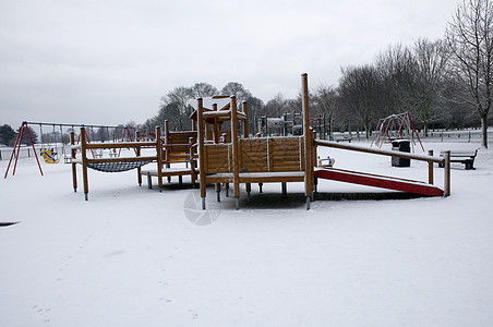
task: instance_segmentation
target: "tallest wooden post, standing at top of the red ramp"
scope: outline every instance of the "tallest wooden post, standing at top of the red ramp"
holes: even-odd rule
[[[303,110],[303,138],[304,138],[304,195],[306,196],[306,210],[310,209],[310,201],[312,196],[312,181],[311,181],[311,144],[310,144],[310,112],[309,112],[309,89],[308,89],[308,74],[301,75],[302,88],[302,110]]]

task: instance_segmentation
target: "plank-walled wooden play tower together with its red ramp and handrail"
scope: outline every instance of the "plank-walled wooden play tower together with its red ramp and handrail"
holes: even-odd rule
[[[301,77],[303,125],[310,126],[308,75],[303,74]],[[205,209],[207,183],[216,184],[217,201],[220,201],[220,185],[224,184],[228,187],[229,183],[232,183],[237,209],[239,209],[240,204],[240,184],[245,184],[248,199],[250,201],[252,183],[258,183],[261,192],[263,183],[281,183],[282,193],[286,193],[288,182],[302,182],[304,183],[306,209],[310,209],[310,203],[314,198],[313,194],[316,191],[318,179],[363,184],[423,196],[448,196],[450,193],[449,153],[444,157],[433,157],[432,152],[424,156],[342,145],[338,142],[315,140],[312,129],[303,129],[301,136],[249,137],[249,131],[244,128],[248,125],[246,102],[242,104],[242,109],[243,111],[237,110],[235,97],[230,97],[230,106],[224,107],[223,110],[206,109],[203,106],[203,100],[197,99],[196,119],[203,209]],[[215,124],[219,120],[221,122],[230,121],[230,141],[217,142],[216,134],[212,137],[214,140],[207,136],[206,131],[218,130]],[[243,121],[242,136],[238,132],[238,123],[241,121]],[[358,171],[315,167],[316,148],[318,146],[426,161],[429,164],[428,183]],[[433,185],[433,164],[445,165],[444,190]]]

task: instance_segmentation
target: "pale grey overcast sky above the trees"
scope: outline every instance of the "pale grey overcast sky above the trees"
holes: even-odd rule
[[[456,0],[0,0],[0,124],[143,123],[176,86],[264,102],[442,38]]]

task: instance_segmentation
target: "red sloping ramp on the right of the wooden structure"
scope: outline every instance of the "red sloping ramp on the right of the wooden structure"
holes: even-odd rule
[[[315,178],[388,189],[394,191],[409,192],[425,196],[444,195],[443,190],[424,182],[336,168],[316,168]]]

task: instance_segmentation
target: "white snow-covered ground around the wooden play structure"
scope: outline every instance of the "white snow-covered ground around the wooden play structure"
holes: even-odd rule
[[[327,154],[338,168],[428,180],[423,162]],[[302,184],[288,184],[288,199],[266,184],[250,205],[243,192],[239,211],[209,189],[201,216],[197,189],[89,171],[85,202],[70,165],[44,164],[41,177],[21,159],[0,182],[0,222],[19,222],[0,227],[0,326],[493,326],[492,164],[485,149],[477,170],[454,164],[447,198],[305,210]],[[332,181],[318,191],[386,192]]]

